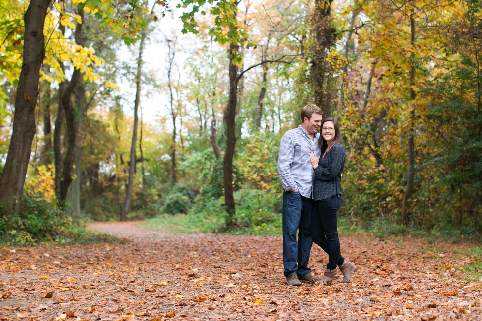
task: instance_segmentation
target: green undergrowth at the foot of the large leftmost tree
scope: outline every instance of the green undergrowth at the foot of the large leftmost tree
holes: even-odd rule
[[[88,231],[83,224],[42,198],[25,196],[20,210],[0,204],[0,243],[5,245],[90,244],[116,238]]]

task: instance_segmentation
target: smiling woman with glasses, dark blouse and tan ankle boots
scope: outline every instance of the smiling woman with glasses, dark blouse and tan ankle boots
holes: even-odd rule
[[[340,254],[336,213],[341,205],[341,175],[345,166],[345,148],[341,145],[340,126],[334,118],[321,122],[323,139],[319,140],[321,157],[310,153],[316,180],[313,188],[311,237],[328,253],[328,264],[321,282],[331,284],[338,278],[336,265],[343,273],[342,283],[350,280],[357,267]]]

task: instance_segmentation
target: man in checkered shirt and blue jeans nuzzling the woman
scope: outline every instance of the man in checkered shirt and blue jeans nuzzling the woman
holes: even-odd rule
[[[314,282],[308,268],[311,251],[311,209],[313,207],[313,166],[310,151],[320,157],[318,127],[322,110],[308,104],[301,110],[301,124],[281,139],[278,173],[283,182],[283,265],[288,285]],[[296,232],[298,233],[298,242]]]

